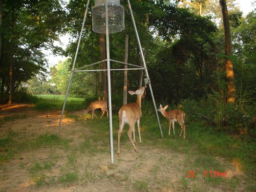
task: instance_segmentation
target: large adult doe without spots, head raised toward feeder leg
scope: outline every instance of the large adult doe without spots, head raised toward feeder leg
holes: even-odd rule
[[[133,145],[133,148],[135,152],[138,152],[136,146],[135,146],[135,122],[137,121],[138,125],[138,132],[139,132],[139,139],[141,143],[140,138],[140,118],[142,115],[141,112],[141,97],[145,91],[145,87],[139,88],[136,91],[129,91],[128,93],[130,95],[137,95],[137,101],[136,103],[128,103],[121,107],[121,109],[118,112],[118,118],[119,118],[119,130],[118,130],[118,143],[117,143],[117,155],[120,155],[120,137],[121,133],[123,131],[123,126],[125,124],[129,124],[129,130],[127,132],[127,135]],[[132,132],[133,132],[133,140],[132,140]]]

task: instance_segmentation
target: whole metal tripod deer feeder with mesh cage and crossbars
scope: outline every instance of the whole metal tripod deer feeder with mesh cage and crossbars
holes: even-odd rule
[[[158,117],[158,113],[157,113],[157,107],[156,107],[156,103],[155,103],[155,98],[153,95],[153,90],[151,87],[151,83],[150,83],[150,77],[148,75],[147,72],[147,68],[146,68],[146,62],[145,62],[145,58],[142,52],[142,47],[140,44],[140,39],[139,39],[139,35],[138,35],[138,31],[137,31],[137,27],[135,24],[135,20],[134,20],[134,16],[133,16],[133,11],[132,11],[132,7],[130,4],[130,1],[127,0],[127,5],[129,7],[130,10],[130,15],[132,17],[132,22],[133,22],[133,26],[134,26],[134,31],[137,37],[137,41],[138,41],[138,46],[139,46],[139,50],[140,50],[140,54],[142,57],[142,61],[143,61],[143,66],[136,66],[136,65],[132,65],[130,63],[124,63],[121,61],[116,61],[113,59],[110,59],[110,47],[109,47],[109,33],[117,33],[117,32],[121,32],[122,30],[124,30],[124,9],[123,6],[120,5],[120,0],[95,0],[95,6],[92,8],[92,26],[93,26],[93,31],[96,33],[105,33],[106,35],[106,59],[102,60],[102,61],[98,61],[95,62],[91,65],[87,65],[84,66],[82,68],[87,68],[93,65],[97,65],[100,62],[105,62],[107,64],[107,69],[103,69],[103,70],[81,70],[82,68],[78,68],[75,69],[75,63],[76,63],[76,59],[77,59],[77,54],[78,54],[78,50],[79,50],[79,46],[80,46],[80,42],[81,42],[81,38],[82,38],[82,31],[84,28],[84,24],[86,23],[86,16],[88,13],[88,7],[90,4],[90,0],[87,1],[87,6],[86,6],[86,12],[84,13],[84,18],[83,18],[83,22],[82,22],[82,28],[81,28],[81,32],[79,35],[79,39],[78,39],[78,44],[77,44],[77,48],[76,48],[76,54],[74,57],[74,61],[73,61],[73,67],[72,67],[72,71],[70,74],[70,79],[69,79],[69,84],[68,84],[68,89],[66,92],[66,96],[65,96],[65,100],[64,100],[64,104],[62,107],[62,111],[61,111],[61,115],[60,115],[60,119],[59,119],[59,125],[58,125],[58,135],[59,135],[59,131],[60,131],[60,126],[61,126],[61,121],[63,118],[63,114],[64,114],[64,110],[65,110],[65,106],[66,106],[66,102],[67,102],[67,98],[68,98],[68,93],[69,93],[69,88],[70,88],[70,84],[71,84],[71,79],[73,77],[73,73],[74,72],[79,72],[79,71],[107,71],[108,72],[108,93],[109,93],[109,122],[110,122],[110,148],[111,148],[111,164],[114,164],[114,152],[113,152],[113,123],[112,123],[112,101],[111,101],[111,74],[110,71],[113,70],[137,70],[142,69],[145,70],[145,74],[146,74],[146,81],[148,83],[148,87],[150,88],[151,91],[151,96],[152,96],[152,100],[153,100],[153,104],[154,104],[154,108],[155,108],[155,112],[156,112],[156,116],[157,116],[157,120],[158,120],[158,124],[159,124],[159,129],[160,129],[160,133],[161,136],[163,137],[163,133],[162,133],[162,128],[161,128],[161,124],[160,124],[160,120]],[[110,68],[110,61],[114,61],[114,62],[119,62],[125,65],[129,65],[129,66],[136,66],[136,69],[111,69]]]

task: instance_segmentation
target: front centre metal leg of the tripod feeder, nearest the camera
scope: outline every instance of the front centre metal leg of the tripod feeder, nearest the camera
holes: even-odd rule
[[[111,164],[114,164],[108,0],[105,0],[105,19],[106,19],[106,66],[108,71],[109,117],[110,117],[110,155],[111,155]]]

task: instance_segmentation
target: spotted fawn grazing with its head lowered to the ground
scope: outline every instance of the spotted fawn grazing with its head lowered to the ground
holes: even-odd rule
[[[107,105],[107,102],[104,100],[98,100],[98,101],[91,102],[86,110],[82,110],[83,111],[82,116],[86,115],[89,111],[92,110],[92,119],[93,119],[93,116],[95,115],[94,114],[95,109],[99,109],[99,108],[102,111],[101,117],[104,115],[105,112],[106,112],[106,116],[109,117],[108,105]]]

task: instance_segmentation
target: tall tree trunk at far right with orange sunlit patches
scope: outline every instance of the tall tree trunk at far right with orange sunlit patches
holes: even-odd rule
[[[234,72],[233,72],[233,63],[230,60],[231,56],[231,35],[230,35],[230,27],[228,20],[228,11],[225,0],[220,0],[220,5],[222,8],[222,16],[223,16],[223,25],[224,25],[224,34],[225,34],[225,68],[226,68],[226,76],[228,82],[228,103],[234,103],[236,101],[236,86],[234,84]]]

